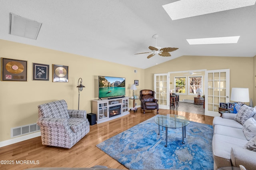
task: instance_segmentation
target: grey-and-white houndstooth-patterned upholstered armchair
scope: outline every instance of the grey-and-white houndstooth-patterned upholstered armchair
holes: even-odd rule
[[[66,101],[38,105],[38,126],[42,144],[71,148],[89,131],[86,111],[68,110]]]

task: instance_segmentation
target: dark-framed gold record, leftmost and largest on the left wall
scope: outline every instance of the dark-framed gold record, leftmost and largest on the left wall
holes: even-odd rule
[[[27,61],[1,58],[2,81],[27,81]]]

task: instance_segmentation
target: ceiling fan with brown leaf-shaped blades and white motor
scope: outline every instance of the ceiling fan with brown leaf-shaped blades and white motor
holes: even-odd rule
[[[152,38],[154,38],[156,40],[156,38],[158,38],[158,34],[154,34],[152,36]],[[155,47],[149,46],[148,48],[151,50],[151,52],[145,52],[145,53],[151,53],[151,54],[148,55],[147,58],[153,57],[156,54],[158,54],[162,57],[170,57],[171,56],[170,52],[178,49],[178,48],[173,48],[173,47],[161,48],[161,47],[157,47],[157,46],[155,46]],[[136,54],[144,54],[144,53],[136,53]]]

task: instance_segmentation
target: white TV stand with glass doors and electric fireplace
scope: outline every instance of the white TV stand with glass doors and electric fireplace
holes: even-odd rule
[[[119,115],[111,117],[110,108],[119,108]],[[124,115],[129,114],[129,97],[122,97],[118,99],[102,99],[92,100],[92,113],[96,114],[97,124],[110,121]]]

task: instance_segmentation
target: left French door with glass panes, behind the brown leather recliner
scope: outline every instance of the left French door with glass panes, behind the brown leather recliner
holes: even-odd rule
[[[168,74],[154,74],[154,91],[159,109],[170,109],[169,83]]]

